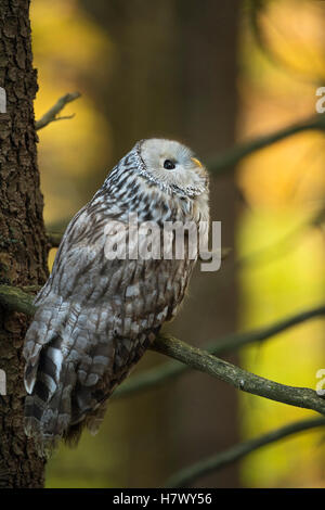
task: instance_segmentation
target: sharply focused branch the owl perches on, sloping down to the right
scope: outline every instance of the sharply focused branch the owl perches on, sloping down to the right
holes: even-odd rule
[[[0,303],[12,310],[27,315],[34,315],[36,309],[30,295],[20,289],[6,285],[0,286]],[[325,415],[325,399],[320,397],[314,390],[287,386],[270,381],[172,336],[159,335],[152,349],[220,379],[244,392]]]

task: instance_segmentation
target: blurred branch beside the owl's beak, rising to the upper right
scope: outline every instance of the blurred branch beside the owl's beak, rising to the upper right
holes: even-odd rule
[[[230,167],[233,167],[236,163],[238,163],[240,160],[243,160],[245,156],[248,156],[252,152],[264,149],[280,140],[283,140],[292,135],[297,135],[298,132],[310,130],[325,130],[325,116],[316,115],[306,120],[302,120],[301,123],[287,126],[273,133],[264,135],[249,140],[245,143],[234,145],[232,149],[224,151],[219,156],[211,160],[208,163],[207,167],[212,174],[223,174]]]

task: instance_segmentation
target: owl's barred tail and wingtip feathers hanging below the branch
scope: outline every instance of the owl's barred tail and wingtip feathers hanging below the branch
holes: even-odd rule
[[[87,317],[76,304],[42,304],[26,334],[25,432],[41,456],[61,438],[76,444],[84,425],[94,431],[110,394],[115,346],[89,333]]]

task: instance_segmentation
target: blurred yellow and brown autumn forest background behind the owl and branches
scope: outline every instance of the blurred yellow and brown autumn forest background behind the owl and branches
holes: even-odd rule
[[[62,230],[139,139],[176,138],[204,162],[315,113],[325,86],[325,2],[31,1],[36,117],[78,90],[69,120],[39,131],[46,222]],[[169,329],[194,345],[325,299],[324,135],[306,131],[211,177],[211,214],[231,255],[197,271]],[[54,250],[51,253],[53,260]],[[314,320],[226,359],[315,387],[325,367]],[[147,353],[136,371],[166,362]],[[135,373],[136,373],[135,371]],[[134,372],[133,372],[134,373]],[[95,437],[61,447],[48,487],[159,486],[178,469],[311,412],[188,372],[112,400]],[[196,486],[325,486],[324,433],[303,433],[202,477]]]

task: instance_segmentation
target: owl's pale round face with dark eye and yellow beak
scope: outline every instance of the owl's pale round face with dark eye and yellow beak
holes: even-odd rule
[[[151,138],[135,145],[141,169],[156,184],[188,196],[207,191],[208,175],[193,152],[173,140]]]

